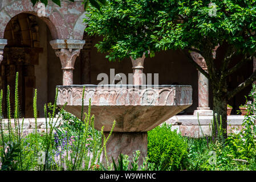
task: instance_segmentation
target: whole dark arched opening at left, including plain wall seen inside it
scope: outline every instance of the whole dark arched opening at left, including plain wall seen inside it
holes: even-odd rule
[[[4,39],[7,45],[0,69],[3,117],[7,117],[7,85],[13,114],[16,72],[19,73],[19,117],[33,118],[35,89],[38,91],[38,117],[44,117],[43,105],[54,100],[55,86],[62,83],[61,65],[49,43],[52,36],[47,23],[32,14],[18,14],[7,24]]]

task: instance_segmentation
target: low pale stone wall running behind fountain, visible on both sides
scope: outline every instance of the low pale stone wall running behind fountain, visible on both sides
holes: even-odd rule
[[[201,138],[204,135],[211,135],[210,123],[213,117],[210,116],[199,116],[198,123],[197,116],[194,115],[175,115],[172,118],[168,119],[166,123],[172,124],[172,130],[177,129],[177,132],[180,132],[181,135],[193,138]],[[230,133],[232,129],[241,130],[244,116],[243,115],[229,115],[227,116],[227,133]],[[54,123],[57,118],[54,118]],[[3,127],[8,129],[8,119],[3,119]],[[22,119],[19,119],[20,126],[22,125]],[[47,121],[48,122],[48,121]],[[56,126],[59,126],[60,119],[56,123]],[[14,127],[14,119],[11,119],[11,127]],[[31,133],[35,130],[35,119],[34,118],[25,118],[23,121],[23,133]],[[37,131],[45,132],[46,131],[46,119],[38,118],[37,119]]]

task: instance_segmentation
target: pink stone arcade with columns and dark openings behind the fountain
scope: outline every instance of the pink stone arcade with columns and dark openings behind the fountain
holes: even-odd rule
[[[19,72],[20,117],[32,118],[35,89],[38,90],[38,116],[43,117],[43,105],[54,100],[56,85],[98,84],[97,75],[106,73],[109,76],[110,69],[125,75],[132,73],[131,60],[109,62],[105,55],[97,52],[94,45],[101,38],[84,33],[86,25],[82,19],[86,14],[82,1],[62,1],[61,8],[49,3],[45,17],[38,17],[36,11],[30,0],[3,0],[0,6],[0,87],[4,98],[7,85],[10,85],[10,95],[14,96],[15,74]],[[202,61],[198,56],[194,59]],[[230,89],[252,72],[253,63],[248,63],[231,75]],[[159,73],[160,85],[192,85],[193,105],[184,114],[193,114],[197,107],[206,110],[206,115],[211,114],[210,83],[181,52],[159,52],[153,58],[146,58],[144,73]],[[250,89],[246,88],[229,101],[234,108],[233,114],[244,103],[244,96]],[[13,103],[11,97],[11,105]]]

